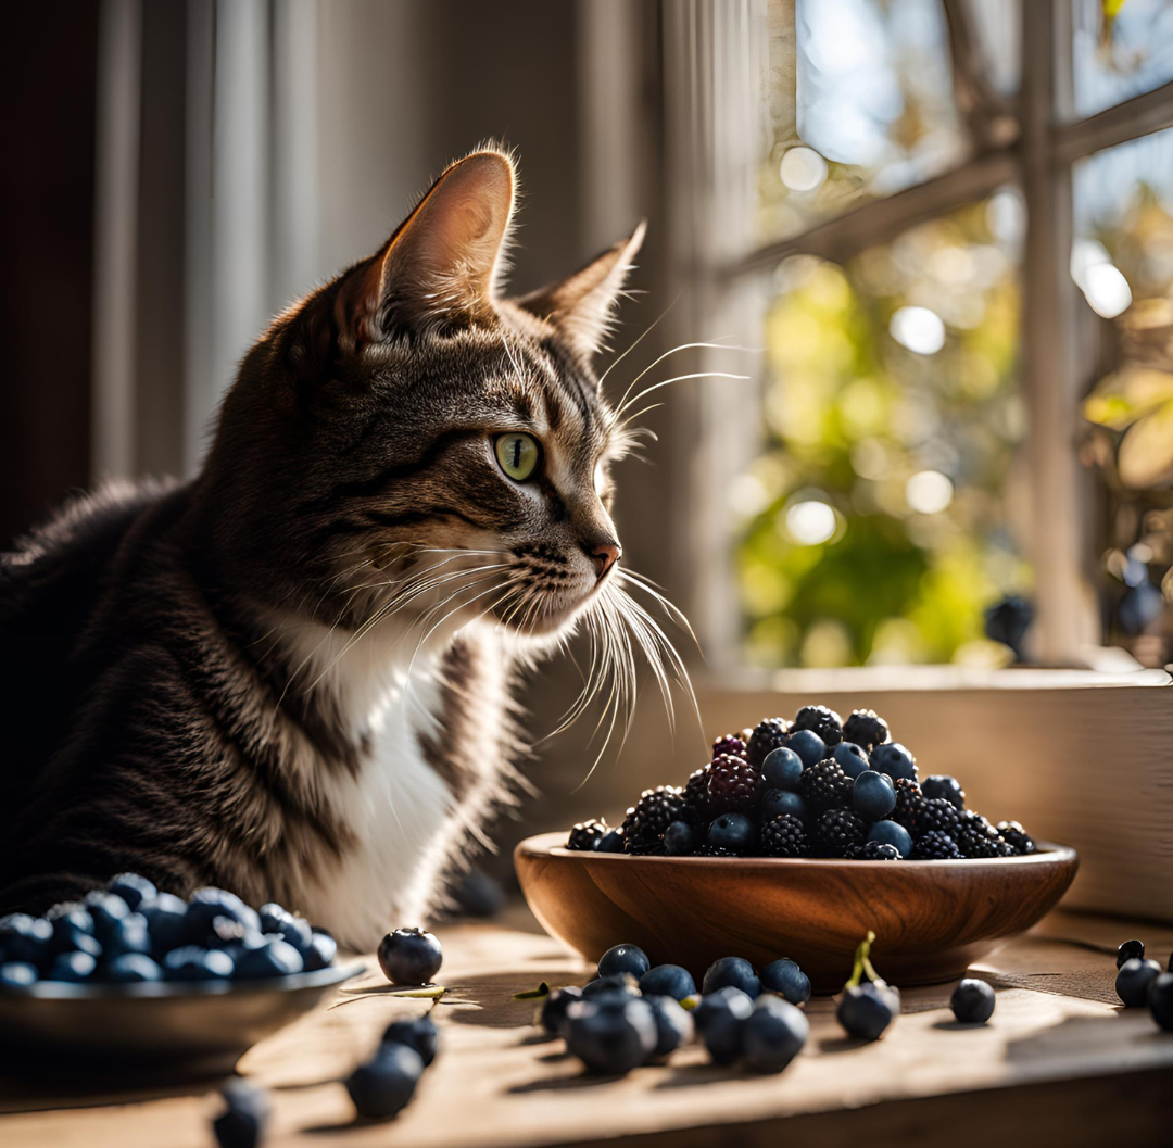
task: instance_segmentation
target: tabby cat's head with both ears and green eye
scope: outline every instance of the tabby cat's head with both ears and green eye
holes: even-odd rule
[[[507,299],[515,198],[509,156],[454,163],[245,358],[197,497],[224,561],[273,605],[347,627],[488,616],[538,636],[615,579],[609,468],[628,442],[592,358],[643,225]]]

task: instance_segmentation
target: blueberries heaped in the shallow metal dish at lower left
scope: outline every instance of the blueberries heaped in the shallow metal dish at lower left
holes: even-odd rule
[[[0,990],[38,980],[134,984],[257,980],[325,969],[333,937],[278,904],[252,909],[224,889],[188,901],[126,872],[43,917],[0,917]]]

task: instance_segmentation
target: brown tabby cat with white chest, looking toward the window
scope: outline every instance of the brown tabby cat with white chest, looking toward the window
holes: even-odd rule
[[[0,911],[136,870],[366,947],[516,792],[518,668],[631,600],[591,359],[643,225],[504,299],[515,186],[493,148],[449,167],[273,320],[195,480],[4,556]]]

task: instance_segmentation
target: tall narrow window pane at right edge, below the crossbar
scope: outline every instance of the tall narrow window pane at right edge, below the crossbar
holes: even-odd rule
[[[1097,539],[1107,637],[1161,666],[1173,660],[1173,130],[1091,156],[1073,177],[1071,273],[1111,320],[1084,402],[1084,457],[1108,510]]]

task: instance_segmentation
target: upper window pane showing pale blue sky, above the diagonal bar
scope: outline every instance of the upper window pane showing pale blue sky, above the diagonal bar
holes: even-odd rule
[[[771,0],[769,21],[764,240],[964,156],[940,0]]]

